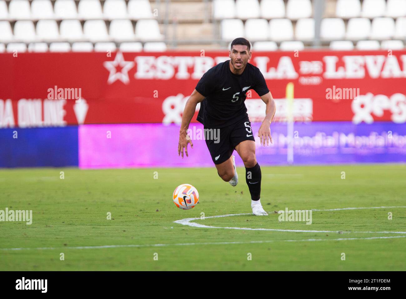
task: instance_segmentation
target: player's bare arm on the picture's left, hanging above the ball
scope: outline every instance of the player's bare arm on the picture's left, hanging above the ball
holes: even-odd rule
[[[186,157],[188,155],[188,143],[190,143],[190,147],[193,148],[193,143],[190,140],[190,137],[187,134],[189,129],[190,121],[194,116],[194,112],[196,111],[197,103],[200,103],[202,100],[205,99],[205,96],[200,94],[196,89],[192,92],[188,100],[186,101],[185,109],[183,111],[182,116],[182,124],[180,126],[179,132],[179,144],[178,144],[178,155],[182,153],[183,158],[183,150],[185,149]]]

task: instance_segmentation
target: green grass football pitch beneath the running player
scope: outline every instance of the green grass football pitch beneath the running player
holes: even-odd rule
[[[269,216],[183,218],[251,212],[238,168],[236,187],[212,168],[0,170],[0,210],[32,210],[32,224],[0,222],[0,269],[73,270],[406,270],[406,165],[262,167]],[[60,179],[60,172],[64,179]],[[157,172],[158,179],[154,179]],[[341,179],[345,172],[345,179]],[[156,177],[156,173],[155,173]],[[190,183],[199,204],[180,210],[173,190]],[[274,211],[314,211],[313,222],[279,222]],[[111,220],[107,213],[111,213]],[[393,219],[388,219],[388,212]],[[358,231],[358,233],[355,233]],[[397,238],[375,238],[394,237]],[[354,240],[337,240],[355,238]],[[161,244],[161,245],[160,245]],[[93,248],[97,246],[108,246]],[[123,245],[123,247],[117,247]],[[135,245],[128,247],[127,245]],[[86,247],[86,248],[75,248]],[[10,250],[10,249],[18,250]],[[39,249],[41,248],[41,249]],[[64,260],[60,260],[60,253]],[[342,260],[343,253],[345,260]]]

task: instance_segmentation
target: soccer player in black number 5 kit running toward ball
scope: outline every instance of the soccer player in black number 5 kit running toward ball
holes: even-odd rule
[[[255,157],[254,133],[244,104],[246,93],[254,89],[266,104],[266,116],[258,131],[263,146],[272,143],[270,124],[276,108],[263,75],[257,67],[248,63],[251,55],[248,40],[242,37],[234,39],[229,50],[230,60],[219,63],[201,77],[183,112],[178,155],[182,154],[183,158],[185,150],[188,157],[188,143],[193,148],[186,132],[197,103],[201,103],[197,120],[204,125],[205,132],[206,129],[218,129],[220,132],[218,140],[205,138],[218,175],[231,186],[237,185],[238,175],[232,155],[235,149],[244,162],[253,214],[260,216],[268,213],[263,210],[260,201],[261,168]]]

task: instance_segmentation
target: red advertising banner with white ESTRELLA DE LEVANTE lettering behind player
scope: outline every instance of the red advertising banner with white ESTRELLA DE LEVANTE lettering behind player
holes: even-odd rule
[[[228,52],[0,54],[0,127],[179,123],[188,96]],[[284,120],[406,122],[406,51],[253,52]],[[252,90],[251,120],[265,112]],[[196,121],[195,118],[193,121]]]

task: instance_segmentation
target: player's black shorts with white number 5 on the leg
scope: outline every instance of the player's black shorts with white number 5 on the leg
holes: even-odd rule
[[[233,154],[235,146],[240,142],[244,140],[255,141],[248,117],[229,127],[218,129],[204,127],[204,129],[207,148],[209,148],[214,164],[227,161]]]

